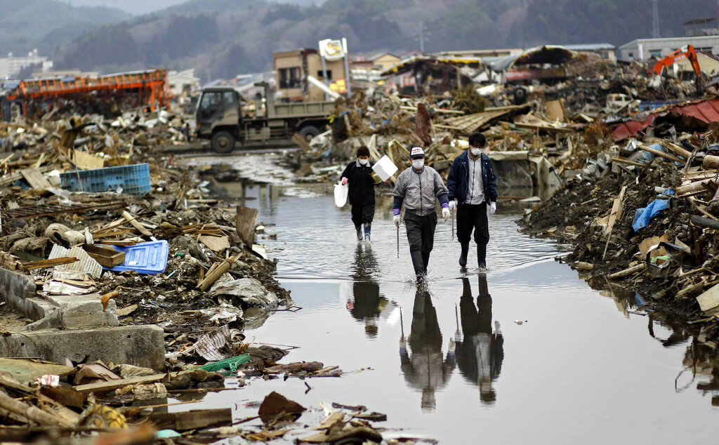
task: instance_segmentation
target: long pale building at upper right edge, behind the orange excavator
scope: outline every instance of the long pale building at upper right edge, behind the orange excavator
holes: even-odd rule
[[[701,37],[667,37],[661,39],[637,39],[619,47],[621,60],[649,60],[663,58],[684,45],[709,54],[719,55],[719,35]]]

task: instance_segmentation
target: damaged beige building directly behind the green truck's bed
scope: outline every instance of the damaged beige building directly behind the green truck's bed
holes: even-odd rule
[[[319,50],[301,49],[275,52],[273,54],[277,76],[278,101],[324,101],[324,92],[312,85],[307,76],[311,75],[324,82],[322,59]],[[347,91],[344,60],[327,60],[327,83],[337,93]]]

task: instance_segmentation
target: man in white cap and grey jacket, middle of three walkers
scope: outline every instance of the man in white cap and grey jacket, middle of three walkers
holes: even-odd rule
[[[407,241],[412,257],[412,265],[421,284],[427,274],[429,253],[434,244],[434,228],[437,225],[437,214],[434,211],[436,199],[442,207],[444,221],[449,219],[449,200],[447,188],[439,173],[434,168],[424,165],[422,147],[412,147],[410,152],[412,167],[404,170],[397,178],[393,212],[396,226],[400,226],[400,209],[404,204],[404,221],[407,229]]]

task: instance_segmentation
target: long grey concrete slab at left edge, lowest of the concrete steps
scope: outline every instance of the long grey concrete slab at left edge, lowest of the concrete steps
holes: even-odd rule
[[[154,325],[22,332],[0,336],[0,357],[38,357],[56,363],[65,363],[66,358],[102,360],[162,371],[165,336]]]

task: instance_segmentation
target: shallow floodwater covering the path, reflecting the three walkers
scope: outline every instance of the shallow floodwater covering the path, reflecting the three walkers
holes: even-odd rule
[[[349,206],[336,208],[329,192],[324,185],[244,189],[245,204],[277,234],[259,241],[278,258],[280,281],[302,308],[275,313],[246,334],[298,347],[292,361],[319,360],[348,374],[251,380],[243,390],[208,395],[203,407],[252,416],[255,403],[277,390],[311,408],[300,418],[308,425],[323,417],[321,401],[386,413],[387,422],[375,423],[388,428],[386,438],[715,441],[718,360],[692,348],[686,326],[647,313],[633,294],[592,290],[553,260],[557,244],[518,232],[516,211],[500,206],[490,218],[486,276],[459,272],[459,246],[449,221],[440,222],[428,291],[419,293],[404,228],[397,257],[389,201],[378,203],[372,242],[357,243]]]

